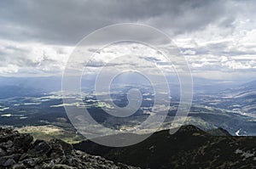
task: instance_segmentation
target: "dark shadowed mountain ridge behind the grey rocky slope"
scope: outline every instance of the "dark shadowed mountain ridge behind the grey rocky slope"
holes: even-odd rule
[[[111,137],[111,136],[110,136]],[[111,148],[86,140],[75,149],[142,168],[253,168],[256,137],[235,137],[222,128],[202,131],[183,126],[170,135],[155,132],[139,144]]]

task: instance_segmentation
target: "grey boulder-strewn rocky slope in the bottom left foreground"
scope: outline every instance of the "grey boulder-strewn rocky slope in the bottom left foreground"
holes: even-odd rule
[[[74,150],[71,144],[60,139],[49,142],[34,140],[29,134],[22,134],[12,128],[0,128],[1,168],[104,168],[135,169],[121,163],[114,164],[101,156],[88,155]]]

